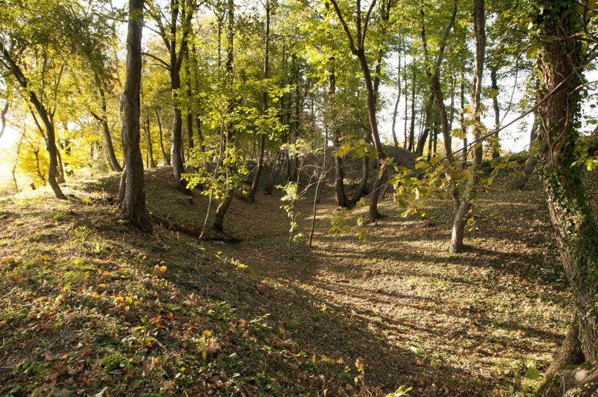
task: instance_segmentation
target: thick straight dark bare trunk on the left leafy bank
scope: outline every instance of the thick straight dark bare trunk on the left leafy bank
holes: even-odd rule
[[[121,132],[125,170],[121,216],[141,229],[151,230],[145,210],[145,178],[140,141],[141,32],[143,0],[129,0],[128,32],[126,39],[126,82],[123,100],[123,129]],[[119,194],[120,195],[120,194]]]

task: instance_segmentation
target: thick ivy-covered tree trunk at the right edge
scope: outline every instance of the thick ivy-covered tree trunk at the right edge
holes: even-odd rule
[[[578,35],[581,5],[576,1],[552,7],[538,1],[543,12],[534,15],[544,46],[538,55],[540,96],[538,139],[540,171],[550,219],[557,234],[561,259],[578,314],[579,339],[586,361],[598,355],[598,227],[587,205],[577,160],[576,122],[580,112],[582,43]]]

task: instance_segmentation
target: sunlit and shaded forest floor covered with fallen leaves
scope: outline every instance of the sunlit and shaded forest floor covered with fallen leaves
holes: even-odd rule
[[[146,176],[152,213],[203,223],[207,198]],[[536,179],[481,196],[460,255],[449,201],[404,219],[387,198],[366,241],[335,239],[326,187],[313,248],[289,255],[280,191],[233,202],[241,243],[198,242],[119,221],[118,182],[1,199],[0,395],[526,395],[571,321]]]

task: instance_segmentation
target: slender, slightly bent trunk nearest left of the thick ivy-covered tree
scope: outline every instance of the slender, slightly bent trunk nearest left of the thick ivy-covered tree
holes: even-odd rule
[[[481,79],[484,74],[484,53],[486,52],[486,15],[484,14],[484,0],[473,0],[473,22],[475,38],[475,67],[474,81],[472,84],[472,117],[476,123],[472,128],[474,140],[481,136],[481,130],[478,126],[481,113]],[[483,156],[481,142],[474,145],[473,164],[470,180],[467,182],[465,192],[461,197],[460,205],[453,221],[453,234],[451,236],[450,250],[458,253],[463,249],[463,234],[465,233],[465,222],[467,213],[472,206],[472,200],[477,193],[477,186],[480,182],[480,168]]]

